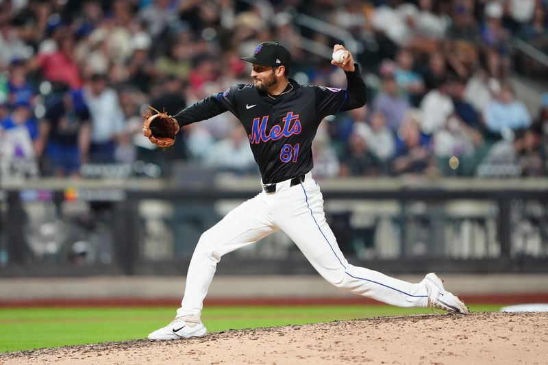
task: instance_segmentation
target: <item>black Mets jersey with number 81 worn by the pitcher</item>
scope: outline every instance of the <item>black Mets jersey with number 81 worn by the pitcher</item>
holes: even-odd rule
[[[312,140],[325,116],[366,103],[358,65],[345,73],[347,89],[303,86],[289,79],[282,94],[271,96],[252,84],[236,84],[190,105],[175,118],[183,126],[232,112],[247,132],[263,184],[277,183],[312,170]]]

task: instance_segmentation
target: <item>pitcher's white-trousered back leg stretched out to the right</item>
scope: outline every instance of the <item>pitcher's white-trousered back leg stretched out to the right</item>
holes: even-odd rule
[[[291,189],[279,205],[275,223],[297,244],[308,261],[327,281],[339,288],[399,307],[427,307],[424,284],[412,284],[375,270],[353,266],[340,251],[325,221],[319,187],[306,181]],[[294,203],[290,203],[290,201]],[[279,213],[279,214],[278,214]]]

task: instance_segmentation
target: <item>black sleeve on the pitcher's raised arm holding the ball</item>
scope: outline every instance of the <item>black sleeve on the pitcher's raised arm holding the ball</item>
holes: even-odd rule
[[[345,74],[346,89],[314,86],[316,108],[322,118],[345,110],[360,108],[367,102],[366,86],[360,75],[358,64],[355,71],[345,71]]]

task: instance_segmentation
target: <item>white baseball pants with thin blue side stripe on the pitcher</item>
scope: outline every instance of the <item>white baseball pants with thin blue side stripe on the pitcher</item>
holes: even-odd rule
[[[278,229],[334,286],[399,307],[428,306],[423,284],[408,283],[347,262],[325,221],[320,188],[308,173],[302,184],[290,186],[290,180],[286,180],[277,184],[276,192],[260,192],[202,234],[190,260],[177,316],[201,314],[216,265],[225,253],[255,243]]]

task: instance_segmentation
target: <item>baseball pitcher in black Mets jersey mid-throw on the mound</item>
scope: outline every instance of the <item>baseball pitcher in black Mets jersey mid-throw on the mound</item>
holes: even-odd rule
[[[341,55],[338,51],[343,51]],[[312,140],[326,116],[360,108],[367,101],[358,64],[342,45],[336,60],[347,77],[347,88],[300,85],[288,78],[291,56],[277,42],[262,42],[252,56],[253,84],[237,84],[198,101],[174,117],[147,115],[143,134],[167,147],[179,126],[231,112],[242,123],[260,168],[262,191],[229,212],[199,239],[186,277],[181,307],[151,340],[201,337],[206,327],[200,315],[216,265],[226,253],[253,244],[282,229],[310,264],[334,286],[399,307],[436,307],[466,314],[468,308],[429,273],[417,284],[353,266],[340,251],[325,221],[320,188],[312,170]],[[339,62],[337,62],[339,61]],[[152,119],[152,120],[151,120]]]

